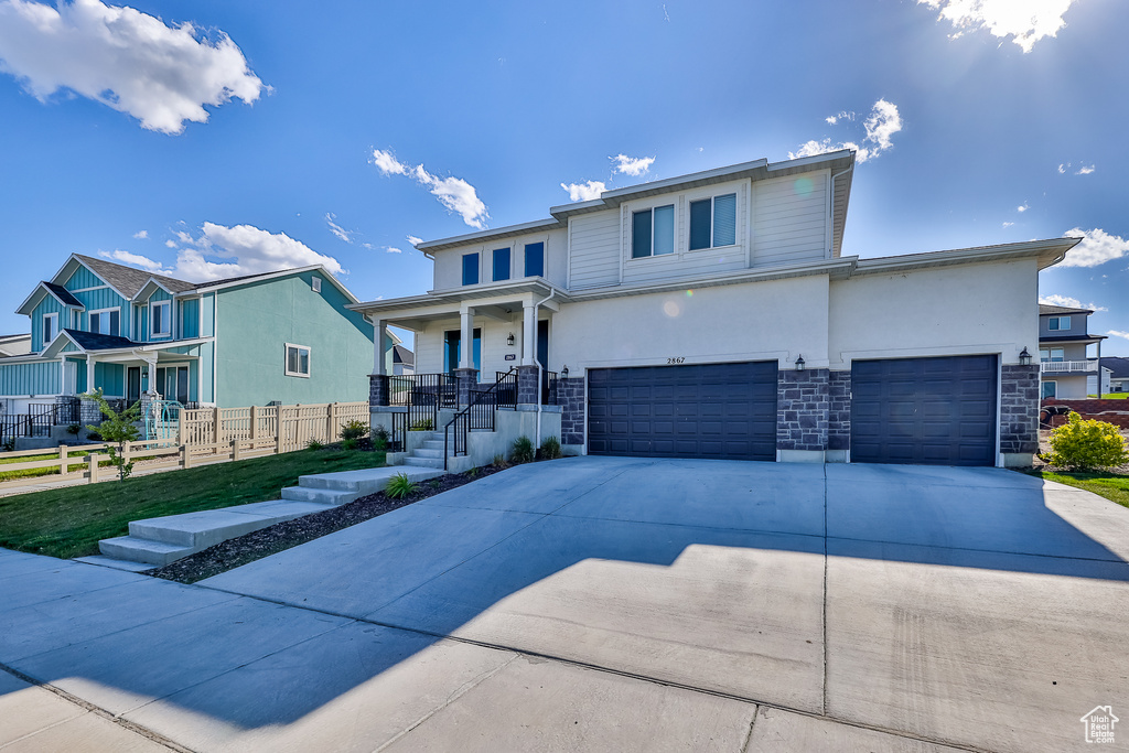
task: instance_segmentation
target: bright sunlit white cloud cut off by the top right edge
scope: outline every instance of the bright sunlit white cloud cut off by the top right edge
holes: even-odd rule
[[[1023,52],[1035,42],[1054,37],[1066,27],[1062,16],[1075,0],[918,0],[940,11],[940,18],[956,29],[949,38],[969,32],[987,30],[1000,40],[1013,37]]]

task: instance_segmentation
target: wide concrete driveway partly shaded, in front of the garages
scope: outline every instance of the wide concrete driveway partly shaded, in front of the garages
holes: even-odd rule
[[[34,690],[192,750],[1083,748],[1127,560],[1129,510],[1008,471],[595,457],[199,586],[0,550],[45,683],[0,746]]]

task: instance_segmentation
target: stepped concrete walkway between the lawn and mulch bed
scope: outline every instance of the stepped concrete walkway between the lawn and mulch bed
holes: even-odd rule
[[[103,557],[80,559],[107,567],[114,567],[116,560],[123,569],[131,570],[137,570],[138,563],[161,567],[228,539],[383,491],[388,479],[397,473],[406,473],[412,481],[443,475],[441,450],[439,455],[438,471],[383,467],[306,475],[298,479],[297,487],[283,489],[282,499],[134,520],[128,536],[98,542]]]

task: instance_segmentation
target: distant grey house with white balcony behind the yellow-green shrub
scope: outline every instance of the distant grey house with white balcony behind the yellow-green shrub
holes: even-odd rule
[[[1088,308],[1039,305],[1039,361],[1041,397],[1085,399],[1097,393],[1097,359],[1105,335],[1089,334]],[[1097,347],[1097,358],[1086,350]]]

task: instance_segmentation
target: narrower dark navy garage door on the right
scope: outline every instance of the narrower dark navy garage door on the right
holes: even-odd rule
[[[850,458],[996,464],[996,356],[855,361]]]

